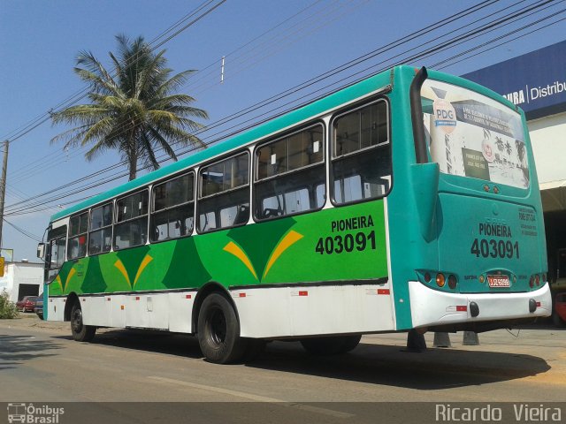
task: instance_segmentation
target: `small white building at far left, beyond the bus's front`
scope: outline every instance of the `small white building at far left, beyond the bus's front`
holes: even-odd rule
[[[4,265],[4,276],[0,277],[0,292],[10,294],[17,302],[24,296],[38,296],[43,292],[43,264],[10,262]]]

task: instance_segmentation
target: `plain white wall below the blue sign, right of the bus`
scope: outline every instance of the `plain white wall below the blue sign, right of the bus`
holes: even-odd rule
[[[527,123],[539,184],[566,180],[566,113]]]

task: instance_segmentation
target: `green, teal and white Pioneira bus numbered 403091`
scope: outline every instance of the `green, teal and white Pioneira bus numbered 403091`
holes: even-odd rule
[[[347,352],[379,332],[501,328],[551,311],[524,113],[399,66],[51,217],[44,315]]]

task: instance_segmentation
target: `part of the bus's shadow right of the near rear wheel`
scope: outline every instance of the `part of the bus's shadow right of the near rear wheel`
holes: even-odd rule
[[[310,356],[298,343],[285,342],[270,344],[263,358],[246,365],[418,390],[504,382],[550,369],[542,358],[509,352],[428,349],[417,353],[398,345],[360,344],[344,355]]]

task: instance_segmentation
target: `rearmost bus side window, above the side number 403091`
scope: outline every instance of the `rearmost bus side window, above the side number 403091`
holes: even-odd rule
[[[384,197],[391,189],[387,103],[373,102],[333,122],[333,202]]]

